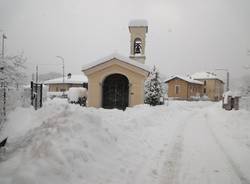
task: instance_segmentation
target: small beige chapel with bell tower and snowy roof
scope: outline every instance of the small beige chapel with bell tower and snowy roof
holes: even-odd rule
[[[130,56],[114,53],[82,68],[88,77],[88,106],[125,109],[144,103],[146,20],[129,23]]]

